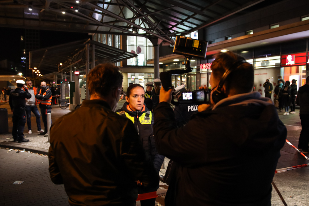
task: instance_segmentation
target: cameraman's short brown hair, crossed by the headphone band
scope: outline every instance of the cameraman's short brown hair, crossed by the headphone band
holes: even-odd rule
[[[216,54],[215,60],[211,64],[212,76],[218,81],[222,78],[225,71],[236,61],[245,60],[242,56],[235,54],[234,52],[219,52]],[[234,71],[232,71],[225,81],[225,87],[227,92],[231,89],[236,94],[252,92],[254,85],[254,70],[250,63],[241,64]]]

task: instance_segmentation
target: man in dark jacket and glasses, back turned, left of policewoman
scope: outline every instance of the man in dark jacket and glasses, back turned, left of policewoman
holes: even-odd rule
[[[153,188],[159,178],[131,120],[114,112],[122,75],[113,64],[101,64],[87,83],[90,100],[51,127],[51,180],[64,184],[70,205],[135,206],[137,182]]]

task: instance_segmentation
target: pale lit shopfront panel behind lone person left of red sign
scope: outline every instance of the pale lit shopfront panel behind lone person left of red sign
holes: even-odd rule
[[[269,79],[269,82],[273,84],[273,91],[277,86],[278,76],[280,76],[280,68],[268,68],[268,69],[255,69],[254,70],[254,91],[260,92],[262,97],[265,97],[265,88],[263,84],[266,82],[266,79]],[[272,100],[274,93],[272,93]]]

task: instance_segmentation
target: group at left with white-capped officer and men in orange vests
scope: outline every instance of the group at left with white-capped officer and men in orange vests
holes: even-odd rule
[[[58,87],[49,88],[44,81],[41,82],[40,89],[38,89],[32,86],[30,79],[26,80],[26,82],[19,79],[16,81],[16,84],[17,88],[8,92],[9,104],[13,113],[13,141],[18,141],[19,143],[28,142],[29,139],[24,138],[24,127],[27,122],[28,134],[32,134],[31,112],[36,117],[37,133],[39,135],[46,135],[47,114],[51,113],[51,105],[53,103],[57,104],[56,99],[60,96],[60,90]],[[52,95],[53,91],[55,93],[54,96]],[[53,97],[55,98],[54,102],[52,102]],[[37,109],[37,105],[39,105],[41,114]],[[41,128],[41,118],[44,123],[44,130]]]

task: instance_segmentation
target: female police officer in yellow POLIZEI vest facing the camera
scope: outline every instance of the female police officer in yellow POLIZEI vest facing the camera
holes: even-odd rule
[[[118,114],[129,118],[135,126],[135,129],[139,133],[139,137],[142,141],[143,147],[146,154],[151,159],[157,173],[159,173],[161,165],[164,161],[164,156],[159,155],[156,147],[155,140],[153,136],[152,125],[154,123],[154,118],[151,111],[149,111],[144,104],[145,92],[144,87],[140,84],[132,84],[127,89],[126,101],[122,108],[118,111]],[[139,194],[157,191],[157,188],[152,188],[149,191],[139,190]],[[142,200],[141,206],[153,206],[155,204],[155,198],[150,200]]]

